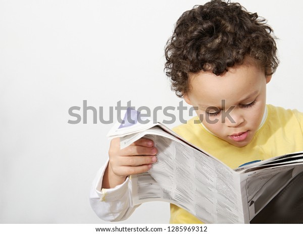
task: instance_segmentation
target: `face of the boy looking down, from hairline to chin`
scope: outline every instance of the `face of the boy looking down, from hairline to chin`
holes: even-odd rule
[[[190,74],[184,99],[198,107],[196,113],[208,130],[243,147],[251,142],[262,121],[270,79],[264,69],[247,58],[220,76],[204,71]]]

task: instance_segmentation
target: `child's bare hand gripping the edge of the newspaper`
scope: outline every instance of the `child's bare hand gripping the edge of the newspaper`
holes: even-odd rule
[[[128,175],[139,174],[157,162],[157,149],[150,139],[140,138],[130,146],[120,149],[120,139],[114,138],[109,149],[109,164],[106,168],[102,188],[114,188],[123,183]]]

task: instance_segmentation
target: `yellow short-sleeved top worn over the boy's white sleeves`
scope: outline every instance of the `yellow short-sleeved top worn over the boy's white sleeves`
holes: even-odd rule
[[[221,160],[230,168],[244,163],[303,151],[303,113],[267,105],[267,118],[252,141],[244,147],[233,146],[210,133],[194,117],[173,130],[188,142]],[[184,209],[171,204],[170,223],[202,223]]]

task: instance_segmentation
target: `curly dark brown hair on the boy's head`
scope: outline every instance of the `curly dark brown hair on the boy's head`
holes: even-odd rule
[[[251,56],[265,74],[275,72],[276,37],[266,20],[239,3],[212,0],[184,12],[165,48],[165,71],[178,97],[188,92],[188,74],[201,70],[221,75]]]

